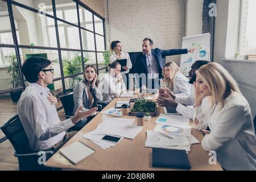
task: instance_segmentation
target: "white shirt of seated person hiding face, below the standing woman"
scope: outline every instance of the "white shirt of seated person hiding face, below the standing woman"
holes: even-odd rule
[[[123,80],[118,82],[117,78],[111,76],[109,72],[101,78],[98,89],[103,96],[102,101],[112,101],[115,97],[119,97],[122,92],[126,92],[125,82]]]

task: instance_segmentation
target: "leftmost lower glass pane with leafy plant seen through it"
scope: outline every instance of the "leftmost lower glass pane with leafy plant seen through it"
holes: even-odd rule
[[[20,86],[18,61],[14,48],[0,48],[0,90]],[[10,69],[10,70],[9,70]],[[9,73],[7,73],[10,71]]]

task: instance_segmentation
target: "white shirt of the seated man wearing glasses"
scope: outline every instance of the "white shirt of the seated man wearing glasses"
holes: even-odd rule
[[[63,139],[65,130],[74,126],[71,118],[60,121],[55,105],[47,99],[48,92],[48,88],[30,84],[18,102],[19,118],[34,151],[54,146]]]

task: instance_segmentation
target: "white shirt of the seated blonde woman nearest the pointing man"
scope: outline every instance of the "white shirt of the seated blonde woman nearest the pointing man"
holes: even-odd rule
[[[187,77],[182,75],[181,72],[177,72],[174,76],[174,94],[176,96],[190,96],[191,85],[189,85]]]

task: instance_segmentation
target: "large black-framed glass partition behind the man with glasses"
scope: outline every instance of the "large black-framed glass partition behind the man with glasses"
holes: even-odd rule
[[[80,1],[0,0],[0,22],[0,90],[13,88],[6,56],[20,64],[32,56],[51,60],[55,75],[50,89],[56,94],[73,89],[86,64],[105,70],[104,18]]]

